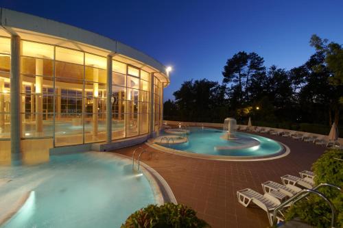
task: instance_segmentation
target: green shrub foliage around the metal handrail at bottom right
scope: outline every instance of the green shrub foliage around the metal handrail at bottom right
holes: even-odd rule
[[[319,183],[332,183],[343,188],[343,151],[330,149],[326,151],[312,166]],[[335,206],[337,211],[336,227],[343,227],[343,194],[334,188],[322,187],[319,189]],[[331,210],[329,205],[317,195],[310,194],[308,200],[303,199],[289,208],[286,220],[300,218],[314,227],[330,227]]]

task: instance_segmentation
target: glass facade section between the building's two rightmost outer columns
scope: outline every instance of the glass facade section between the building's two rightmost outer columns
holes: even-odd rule
[[[149,73],[113,61],[113,139],[147,134],[149,128]]]

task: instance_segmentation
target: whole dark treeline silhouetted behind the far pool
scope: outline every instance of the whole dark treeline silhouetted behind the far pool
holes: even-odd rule
[[[239,51],[227,60],[222,84],[185,81],[174,92],[175,101],[165,102],[165,119],[222,123],[226,117],[239,122],[251,116],[270,127],[324,126],[327,131],[342,121],[343,47],[316,35],[309,44],[316,52],[289,71],[267,68],[257,53]]]

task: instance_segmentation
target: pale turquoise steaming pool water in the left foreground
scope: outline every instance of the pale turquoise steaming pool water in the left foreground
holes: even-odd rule
[[[149,181],[130,160],[108,153],[53,155],[38,166],[0,167],[0,198],[33,190],[2,227],[120,227],[156,203]],[[32,189],[31,189],[32,188]],[[6,205],[10,207],[10,205]]]

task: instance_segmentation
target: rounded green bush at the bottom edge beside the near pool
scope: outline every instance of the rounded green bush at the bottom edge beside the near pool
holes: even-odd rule
[[[131,214],[121,228],[204,228],[210,227],[191,208],[174,203],[148,205]]]

